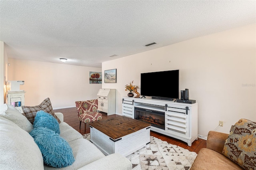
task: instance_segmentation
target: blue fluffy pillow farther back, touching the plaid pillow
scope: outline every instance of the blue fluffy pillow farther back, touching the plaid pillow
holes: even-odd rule
[[[45,127],[53,130],[54,132],[60,134],[60,125],[58,121],[49,113],[44,111],[38,111],[36,113],[35,121],[33,127]]]

